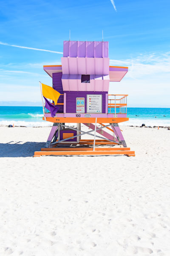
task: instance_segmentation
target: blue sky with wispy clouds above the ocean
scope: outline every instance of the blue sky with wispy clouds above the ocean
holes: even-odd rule
[[[0,101],[40,102],[43,65],[60,64],[63,41],[109,41],[110,64],[128,66],[110,93],[131,107],[170,107],[170,1],[1,1]],[[45,49],[54,52],[13,47]]]

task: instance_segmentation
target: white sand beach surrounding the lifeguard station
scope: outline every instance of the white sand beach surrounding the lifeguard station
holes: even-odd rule
[[[0,256],[170,255],[170,131],[122,129],[136,157],[31,157],[50,128],[0,127]]]

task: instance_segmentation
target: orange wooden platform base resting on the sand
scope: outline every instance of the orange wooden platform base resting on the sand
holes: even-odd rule
[[[41,151],[34,152],[34,157],[42,155],[119,155],[135,156],[135,151],[130,151],[130,148],[41,148]]]

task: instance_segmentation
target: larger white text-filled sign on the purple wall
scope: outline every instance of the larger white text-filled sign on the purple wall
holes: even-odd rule
[[[102,113],[102,95],[87,95],[87,113]]]

